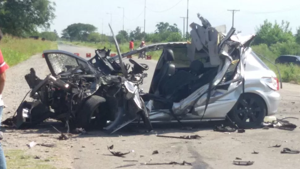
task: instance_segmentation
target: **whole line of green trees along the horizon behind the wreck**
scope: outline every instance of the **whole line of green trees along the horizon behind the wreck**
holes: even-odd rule
[[[50,25],[55,18],[56,4],[50,0],[3,0],[0,1],[0,28],[4,34],[16,37],[45,37],[50,41],[58,38],[70,41],[104,42],[111,41],[112,37],[102,35],[97,32],[97,28],[91,24],[74,23],[62,31],[59,37],[56,31],[50,31]],[[38,32],[38,28],[43,28],[44,32]],[[296,34],[293,34],[289,27],[289,22],[272,23],[265,20],[263,24],[255,30],[256,37],[252,43],[256,50],[267,56],[275,58],[280,54],[300,55],[300,27]],[[153,33],[142,32],[141,27],[127,32],[118,31],[116,38],[119,43],[122,40],[130,41],[144,40],[147,42],[167,42],[185,41],[186,36],[176,24],[160,22],[156,24]],[[272,56],[271,56],[272,55]]]

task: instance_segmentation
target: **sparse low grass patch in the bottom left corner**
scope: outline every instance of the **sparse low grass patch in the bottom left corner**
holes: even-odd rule
[[[6,150],[5,156],[7,169],[56,169],[45,160],[25,154],[24,150]]]

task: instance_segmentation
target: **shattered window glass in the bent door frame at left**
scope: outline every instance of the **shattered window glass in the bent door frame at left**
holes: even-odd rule
[[[56,75],[70,68],[79,66],[76,58],[73,58],[66,54],[51,53],[48,54],[48,59]]]

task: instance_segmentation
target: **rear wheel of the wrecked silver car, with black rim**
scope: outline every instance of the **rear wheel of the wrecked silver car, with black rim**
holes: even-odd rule
[[[266,114],[267,106],[263,98],[254,93],[243,93],[229,112],[229,118],[239,128],[259,128]]]

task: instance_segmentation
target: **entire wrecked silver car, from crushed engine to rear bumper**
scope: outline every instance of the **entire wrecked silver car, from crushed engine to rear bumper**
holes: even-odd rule
[[[255,35],[240,37],[235,28],[225,34],[224,26],[214,28],[198,18],[202,26],[190,24],[191,42],[153,44],[121,54],[113,34],[115,57],[105,49],[88,61],[66,51],[45,51],[51,74],[41,80],[32,69],[25,76],[34,101],[22,102],[12,121],[21,128],[52,118],[109,133],[140,119],[148,130],[152,122],[164,121],[229,119],[239,128],[259,126],[277,112],[280,94],[276,74],[250,48]],[[130,59],[129,72],[122,58],[156,50],[162,54],[144,93],[139,85],[148,65]]]

